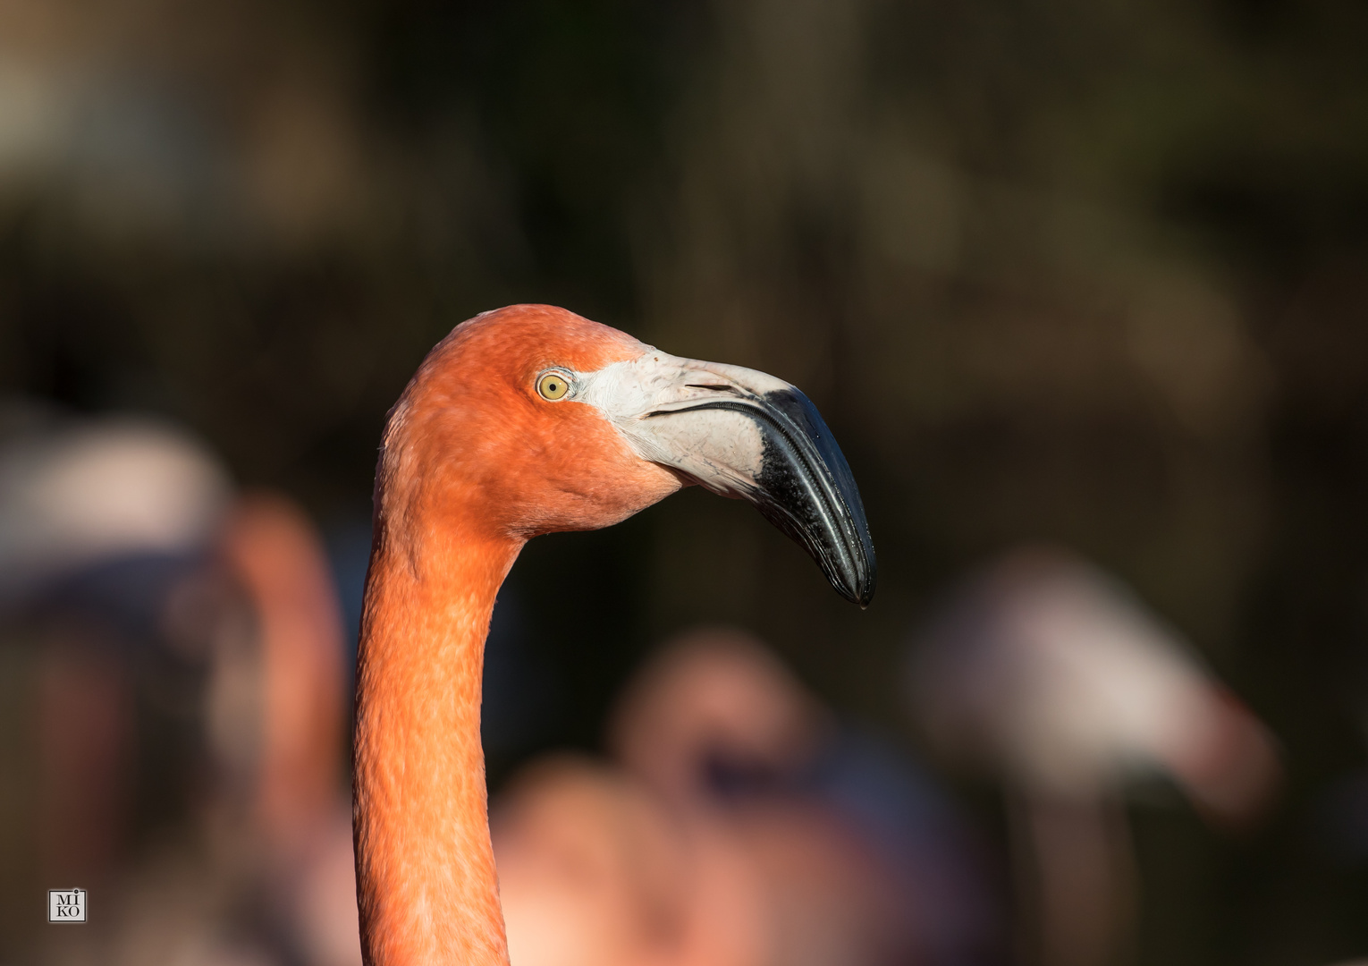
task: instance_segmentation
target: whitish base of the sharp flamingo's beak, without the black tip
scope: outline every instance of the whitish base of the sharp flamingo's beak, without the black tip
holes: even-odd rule
[[[728,497],[755,487],[765,446],[761,428],[740,412],[692,406],[789,389],[782,379],[755,369],[654,349],[596,372],[576,374],[573,398],[598,409],[637,456],[680,469]]]

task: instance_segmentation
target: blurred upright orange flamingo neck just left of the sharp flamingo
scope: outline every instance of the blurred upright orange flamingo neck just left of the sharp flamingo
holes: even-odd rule
[[[317,531],[285,497],[248,494],[219,536],[256,617],[260,686],[250,821],[276,929],[309,966],[361,962],[341,789],[342,613]]]

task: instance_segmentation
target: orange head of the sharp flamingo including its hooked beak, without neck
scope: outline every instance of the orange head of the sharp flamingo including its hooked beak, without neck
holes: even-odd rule
[[[383,450],[378,486],[399,514],[419,499],[477,506],[464,528],[528,539],[607,527],[699,484],[758,506],[847,599],[874,594],[859,490],[806,395],[565,309],[457,326],[395,404]]]

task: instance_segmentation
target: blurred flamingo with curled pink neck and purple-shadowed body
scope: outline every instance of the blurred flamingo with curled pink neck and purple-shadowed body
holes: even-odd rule
[[[990,889],[948,800],[755,636],[699,628],[669,642],[618,702],[610,744],[746,855],[769,962],[992,958]]]

